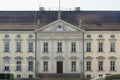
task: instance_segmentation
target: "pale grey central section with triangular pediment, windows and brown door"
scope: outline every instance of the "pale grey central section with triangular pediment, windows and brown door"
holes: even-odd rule
[[[64,20],[38,26],[37,62],[39,74],[80,74],[83,61],[83,30]]]

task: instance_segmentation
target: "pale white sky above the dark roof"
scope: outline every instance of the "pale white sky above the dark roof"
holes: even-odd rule
[[[61,10],[109,10],[120,11],[120,0],[60,0]],[[59,0],[0,0],[0,11],[58,10]]]

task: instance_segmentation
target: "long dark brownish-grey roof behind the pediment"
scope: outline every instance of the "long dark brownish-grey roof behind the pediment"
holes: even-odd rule
[[[0,11],[0,30],[34,30],[57,20],[58,11]],[[61,19],[88,31],[120,30],[120,11],[61,11]]]

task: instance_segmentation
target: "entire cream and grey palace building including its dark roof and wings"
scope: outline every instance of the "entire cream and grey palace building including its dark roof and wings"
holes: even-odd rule
[[[0,11],[0,73],[15,78],[120,74],[119,11]]]

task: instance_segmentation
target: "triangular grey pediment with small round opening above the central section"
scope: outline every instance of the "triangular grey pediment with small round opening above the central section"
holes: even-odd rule
[[[46,26],[43,26],[36,31],[45,31],[45,32],[76,32],[83,31],[77,26],[74,26],[63,20],[56,20]]]

